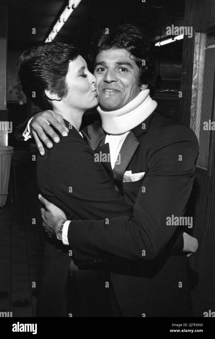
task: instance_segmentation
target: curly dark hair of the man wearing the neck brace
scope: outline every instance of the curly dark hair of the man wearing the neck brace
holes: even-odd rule
[[[145,38],[141,27],[124,24],[110,27],[108,34],[105,34],[105,30],[95,34],[88,54],[88,63],[91,69],[94,69],[96,56],[101,51],[111,48],[124,48],[130,52],[140,69],[139,85],[148,85],[149,89],[153,89],[155,64],[150,54],[150,42]]]

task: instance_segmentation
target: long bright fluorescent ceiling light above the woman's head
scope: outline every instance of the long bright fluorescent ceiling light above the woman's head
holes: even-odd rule
[[[46,42],[52,42],[54,40],[54,38],[56,37],[56,35],[60,31],[60,29],[63,27],[66,20],[69,18],[69,16],[72,14],[74,9],[79,5],[80,2],[81,2],[81,0],[69,0],[68,5],[66,6],[66,8],[62,12],[60,18],[58,19],[58,21],[54,25],[52,32],[50,33],[48,38],[45,40],[45,43]]]

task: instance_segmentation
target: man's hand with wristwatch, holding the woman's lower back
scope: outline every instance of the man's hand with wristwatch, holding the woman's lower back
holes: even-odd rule
[[[66,220],[66,215],[60,208],[43,198],[41,194],[39,194],[38,197],[40,201],[45,205],[45,209],[40,208],[45,232],[48,233],[49,236],[51,234],[56,235],[61,222]]]

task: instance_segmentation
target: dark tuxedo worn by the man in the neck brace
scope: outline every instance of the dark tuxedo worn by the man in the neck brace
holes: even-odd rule
[[[167,217],[184,213],[198,141],[190,128],[157,111],[144,123],[144,129],[138,125],[125,139],[121,164],[113,171],[115,188],[122,192],[123,187],[134,216],[110,219],[109,225],[71,221],[68,239],[78,261],[106,258],[110,262],[113,290],[123,316],[190,316],[188,260],[169,252],[182,226],[167,226]],[[87,136],[93,148],[104,142],[98,125],[88,126]],[[143,180],[122,182],[126,170],[145,172]]]

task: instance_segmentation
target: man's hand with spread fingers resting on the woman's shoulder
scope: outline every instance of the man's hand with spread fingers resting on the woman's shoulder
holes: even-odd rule
[[[51,110],[35,114],[30,123],[30,127],[41,155],[45,153],[41,141],[44,142],[46,147],[53,147],[53,143],[48,139],[46,134],[48,134],[54,142],[58,143],[60,141],[57,133],[55,133],[50,125],[54,126],[63,137],[67,136],[69,132],[60,114],[54,113]]]

